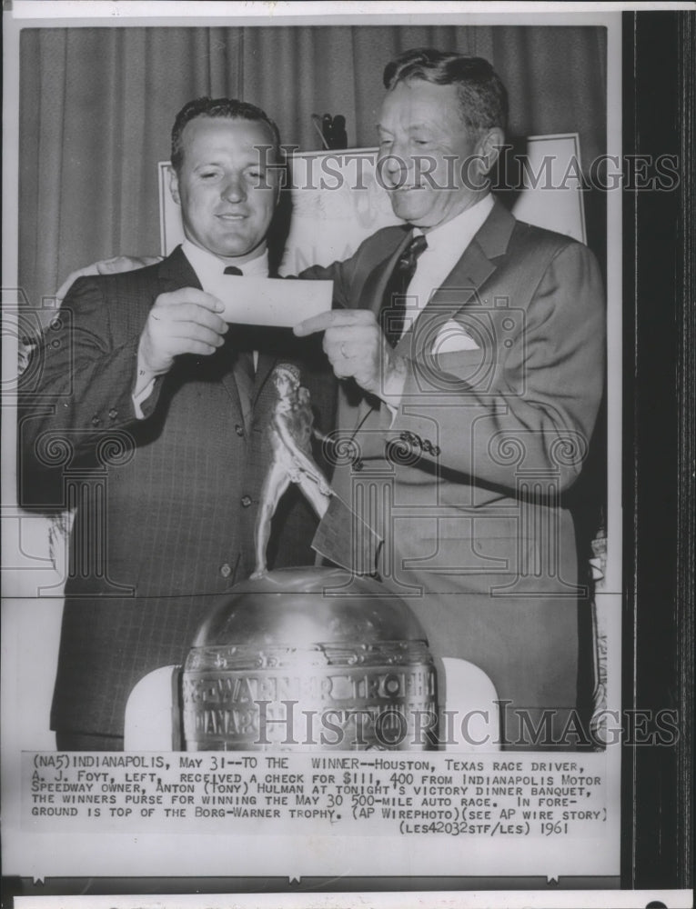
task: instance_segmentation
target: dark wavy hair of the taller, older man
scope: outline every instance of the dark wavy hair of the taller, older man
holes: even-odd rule
[[[399,82],[422,79],[434,85],[456,85],[459,113],[473,130],[508,123],[508,92],[499,75],[483,57],[470,57],[418,47],[404,51],[384,70],[384,86],[388,90]]]

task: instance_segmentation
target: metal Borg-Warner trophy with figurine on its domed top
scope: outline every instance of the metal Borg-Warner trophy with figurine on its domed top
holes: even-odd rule
[[[273,381],[257,564],[188,654],[187,750],[428,749],[436,674],[409,607],[374,577],[339,568],[267,571],[271,519],[288,485],[298,484],[319,517],[333,495],[311,456],[317,434],[297,367],[277,365]]]

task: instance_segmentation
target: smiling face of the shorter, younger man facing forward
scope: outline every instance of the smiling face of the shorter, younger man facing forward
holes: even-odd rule
[[[270,128],[255,120],[197,116],[181,136],[171,193],[191,243],[242,265],[266,247],[277,204]]]

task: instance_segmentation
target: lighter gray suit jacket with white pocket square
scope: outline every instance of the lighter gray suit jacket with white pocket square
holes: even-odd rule
[[[337,305],[378,313],[405,227],[330,277]],[[398,411],[343,383],[334,485],[384,538],[379,571],[439,655],[479,664],[515,706],[577,703],[573,523],[604,380],[604,306],[586,246],[499,203],[402,337]],[[464,336],[476,345],[461,345]],[[320,524],[320,551],[360,559],[359,530]]]

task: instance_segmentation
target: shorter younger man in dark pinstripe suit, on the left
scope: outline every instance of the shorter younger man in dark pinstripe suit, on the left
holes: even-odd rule
[[[207,610],[252,571],[279,357],[300,365],[328,428],[323,356],[313,362],[287,331],[228,326],[206,292],[230,269],[268,275],[278,187],[267,149],[278,146],[254,105],[186,105],[171,177],[186,241],[156,265],[81,277],[37,354],[20,423],[25,491],[32,462],[46,470],[60,452],[62,504],[76,509],[51,716],[59,748],[122,747],[134,684],[181,663]],[[287,503],[275,565],[311,560],[315,528],[300,496]]]

